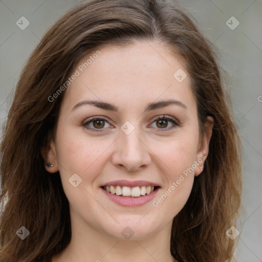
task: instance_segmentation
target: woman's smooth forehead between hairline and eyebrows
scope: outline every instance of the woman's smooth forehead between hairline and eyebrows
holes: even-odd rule
[[[189,75],[163,43],[102,46],[84,56],[74,72],[78,76],[64,97],[71,108],[84,99],[119,101],[129,109],[171,98],[195,106]]]

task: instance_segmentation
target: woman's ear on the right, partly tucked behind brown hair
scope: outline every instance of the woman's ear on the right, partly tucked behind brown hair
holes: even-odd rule
[[[213,117],[208,116],[205,123],[204,134],[199,140],[197,159],[195,160],[195,162],[197,163],[197,167],[194,170],[195,177],[199,176],[199,174],[201,174],[204,169],[204,163],[208,155],[209,142],[212,136],[213,125]]]

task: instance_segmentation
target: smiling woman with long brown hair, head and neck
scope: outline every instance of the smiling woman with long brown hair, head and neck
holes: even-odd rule
[[[241,144],[221,72],[172,3],[60,18],[4,129],[1,261],[229,261]]]

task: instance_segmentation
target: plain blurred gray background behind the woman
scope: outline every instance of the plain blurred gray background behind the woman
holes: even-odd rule
[[[242,234],[235,239],[238,240],[235,255],[239,262],[262,261],[262,0],[175,2],[197,19],[204,35],[219,48],[221,65],[229,74],[234,115],[244,149],[245,211],[238,225],[234,225],[239,231],[243,227]],[[76,0],[0,1],[1,126],[30,53],[47,29],[77,3]],[[30,22],[25,30],[16,25],[21,16]],[[231,16],[239,21],[234,30],[226,24]],[[229,19],[228,23],[235,26],[236,20]]]

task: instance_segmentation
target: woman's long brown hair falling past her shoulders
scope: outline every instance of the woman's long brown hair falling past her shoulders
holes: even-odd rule
[[[40,149],[54,136],[64,92],[48,99],[77,62],[102,45],[159,41],[181,57],[192,80],[201,130],[214,118],[209,155],[190,197],[173,219],[170,250],[179,261],[230,260],[226,236],[239,217],[241,142],[215,47],[193,17],[161,0],[91,0],[79,3],[43,36],[17,83],[1,143],[1,262],[51,261],[71,238],[69,203],[59,172],[45,170]],[[70,87],[69,87],[70,88]],[[30,237],[16,231],[24,226]]]

